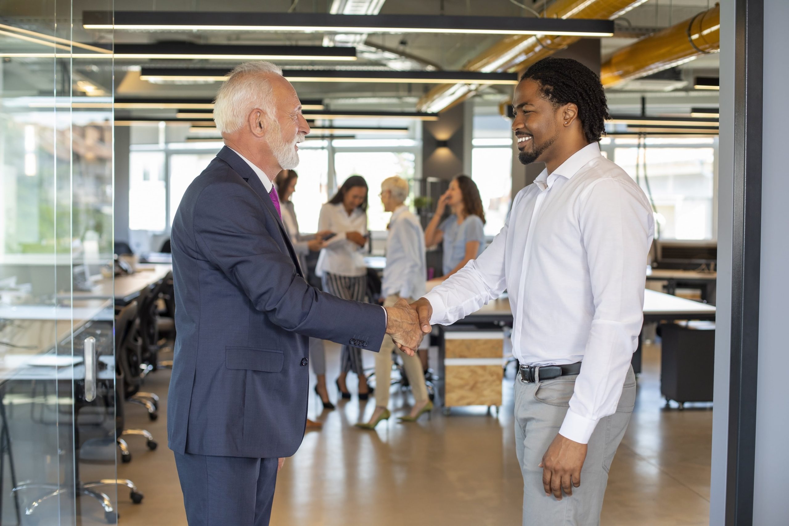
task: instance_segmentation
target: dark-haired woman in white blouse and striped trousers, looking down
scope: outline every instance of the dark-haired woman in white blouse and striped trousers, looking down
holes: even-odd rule
[[[364,301],[367,292],[365,245],[367,231],[367,181],[352,175],[337,193],[320,209],[318,229],[331,231],[326,247],[320,251],[316,274],[323,279],[323,290],[346,300]],[[361,363],[361,349],[343,345],[337,389],[343,398],[350,398],[346,375],[356,373],[359,398],[367,400],[370,388]]]

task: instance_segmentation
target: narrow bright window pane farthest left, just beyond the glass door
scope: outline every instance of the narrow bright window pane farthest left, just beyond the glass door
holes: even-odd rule
[[[163,232],[166,229],[164,153],[129,154],[129,229]]]

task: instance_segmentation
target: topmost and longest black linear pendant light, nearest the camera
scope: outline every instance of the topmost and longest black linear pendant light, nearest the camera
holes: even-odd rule
[[[83,11],[85,29],[129,31],[455,33],[611,36],[614,21],[581,18]]]

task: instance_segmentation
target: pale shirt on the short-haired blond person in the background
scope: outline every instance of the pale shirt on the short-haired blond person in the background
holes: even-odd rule
[[[381,297],[393,294],[402,298],[420,297],[424,294],[427,274],[422,226],[406,205],[400,205],[389,219]]]

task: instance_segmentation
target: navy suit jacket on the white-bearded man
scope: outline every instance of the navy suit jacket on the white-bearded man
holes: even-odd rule
[[[305,282],[263,183],[228,147],[186,189],[170,239],[170,449],[290,457],[307,418],[308,337],[377,351],[385,312]]]

